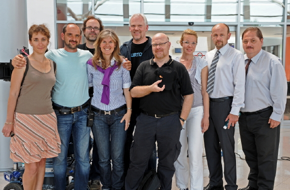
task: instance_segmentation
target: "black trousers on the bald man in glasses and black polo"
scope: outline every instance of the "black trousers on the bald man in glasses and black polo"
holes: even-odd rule
[[[125,178],[125,189],[136,190],[143,178],[148,160],[157,141],[158,167],[157,175],[161,190],[171,190],[172,177],[175,172],[173,163],[180,153],[179,115],[155,118],[140,114],[136,119],[133,143],[130,149],[131,164]]]

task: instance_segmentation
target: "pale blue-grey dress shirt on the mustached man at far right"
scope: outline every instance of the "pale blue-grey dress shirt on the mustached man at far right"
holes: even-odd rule
[[[244,54],[246,63],[248,57]],[[280,121],[285,110],[287,80],[281,60],[260,50],[251,58],[245,80],[245,98],[242,112],[254,112],[272,106],[270,119]]]

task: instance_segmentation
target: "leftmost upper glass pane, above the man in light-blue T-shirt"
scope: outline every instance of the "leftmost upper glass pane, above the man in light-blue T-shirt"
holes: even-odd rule
[[[56,0],[56,20],[84,20],[91,14],[91,0]]]

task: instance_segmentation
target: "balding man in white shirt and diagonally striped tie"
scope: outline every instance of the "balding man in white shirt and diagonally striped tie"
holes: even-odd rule
[[[216,24],[211,29],[215,48],[206,53],[209,73],[209,127],[204,133],[204,147],[209,170],[209,183],[204,190],[223,190],[220,151],[223,152],[226,190],[236,190],[236,166],[234,154],[234,125],[238,113],[244,107],[244,58],[240,51],[230,47],[226,24]],[[229,120],[227,128],[224,122]]]

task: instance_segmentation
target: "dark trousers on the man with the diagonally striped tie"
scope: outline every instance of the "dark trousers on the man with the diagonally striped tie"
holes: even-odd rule
[[[204,148],[209,170],[209,184],[222,186],[222,165],[220,151],[223,153],[224,179],[226,190],[236,190],[236,164],[234,154],[234,127],[223,129],[224,120],[231,110],[232,99],[223,102],[209,102],[209,127],[204,133]],[[220,150],[221,149],[221,150]]]

